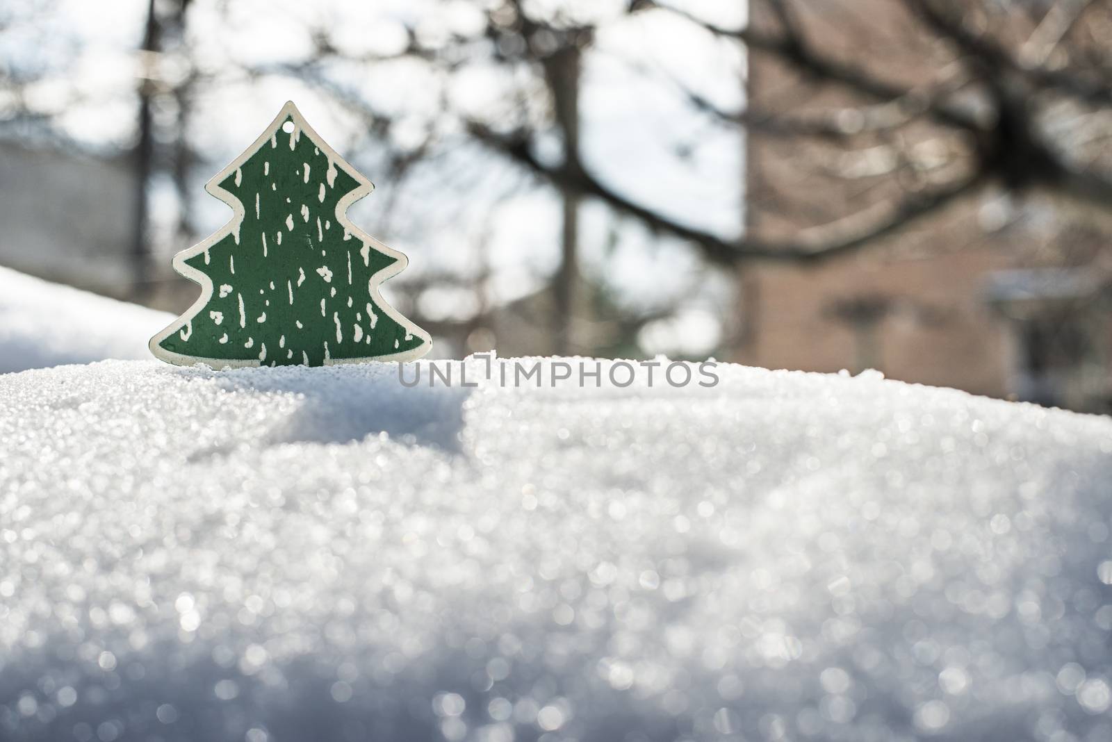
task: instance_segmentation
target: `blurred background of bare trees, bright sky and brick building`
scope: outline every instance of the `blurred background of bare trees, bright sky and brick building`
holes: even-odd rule
[[[904,0],[8,0],[0,264],[185,311],[170,255],[230,214],[202,183],[294,100],[377,184],[349,215],[408,255],[384,295],[431,358],[1112,410],[1112,4],[941,4],[1002,53]]]

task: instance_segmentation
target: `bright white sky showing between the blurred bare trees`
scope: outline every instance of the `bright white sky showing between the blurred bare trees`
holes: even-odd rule
[[[157,8],[172,16],[176,4]],[[627,3],[615,0],[527,4],[557,28],[598,28],[582,79],[580,137],[592,171],[662,213],[737,237],[744,139],[692,110],[677,84],[738,108],[744,57],[736,44],[671,12],[628,16]],[[727,4],[681,3],[736,27],[745,3]],[[375,193],[350,215],[410,255],[410,267],[387,288],[400,294],[406,283],[416,287],[407,292],[416,294],[415,305],[395,298],[407,314],[426,322],[466,321],[479,304],[504,305],[552,281],[560,261],[560,198],[466,134],[468,121],[500,130],[524,116],[540,132],[545,158],[559,157],[558,132],[540,123],[548,103],[536,70],[500,58],[496,44],[484,39],[494,3],[191,0],[183,37],[163,20],[170,27],[163,31],[166,49],[145,54],[136,47],[147,7],[148,0],[107,7],[12,0],[7,13],[0,10],[0,70],[12,70],[21,83],[18,93],[0,84],[0,134],[68,152],[127,151],[137,136],[137,79],[148,76],[156,83],[157,147],[181,151],[158,150],[148,193],[151,285],[139,299],[179,310],[189,305],[159,292],[175,280],[167,270],[170,255],[228,219],[227,207],[201,187],[287,100],[375,182]],[[431,59],[403,56],[410,33],[429,49],[461,44],[466,63],[444,69]],[[321,43],[330,53],[322,56]],[[21,107],[30,123],[16,117]],[[380,119],[393,122],[388,131],[376,128]],[[411,162],[400,168],[399,158]],[[646,353],[695,357],[715,348],[722,334],[717,310],[732,301],[728,277],[707,270],[683,241],[655,234],[602,203],[584,202],[578,233],[584,275],[618,308],[598,310],[598,321],[612,320],[608,313],[668,314],[667,321],[648,322],[637,340]],[[0,240],[0,254],[10,253],[10,264],[50,274],[20,245]],[[129,295],[122,282],[108,290]],[[510,341],[503,340],[505,348]],[[440,345],[447,348],[445,341]]]

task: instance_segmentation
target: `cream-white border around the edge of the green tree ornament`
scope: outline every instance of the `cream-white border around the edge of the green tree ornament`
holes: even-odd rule
[[[247,162],[247,160],[249,160],[256,152],[258,152],[264,147],[269,146],[270,138],[275,134],[275,132],[277,132],[278,129],[281,128],[281,126],[286,122],[287,118],[292,119],[295,127],[295,131],[290,132],[290,136],[295,136],[298,129],[301,130],[309,137],[309,139],[316,147],[320,148],[320,151],[325,153],[325,156],[328,158],[328,160],[332,163],[334,167],[342,168],[349,176],[351,176],[359,183],[358,188],[345,194],[344,198],[340,199],[339,203],[336,204],[336,221],[346,230],[348,230],[354,237],[364,240],[366,242],[369,242],[375,250],[378,250],[389,255],[390,258],[395,259],[396,262],[391,263],[390,265],[387,265],[386,268],[384,268],[383,270],[378,271],[377,273],[370,277],[370,280],[368,281],[368,290],[370,293],[370,299],[376,304],[376,307],[386,312],[386,314],[390,319],[393,319],[395,322],[405,328],[407,332],[425,341],[424,343],[421,343],[416,348],[410,348],[409,350],[400,351],[398,353],[388,353],[386,355],[325,359],[324,365],[338,365],[340,363],[365,363],[368,361],[397,361],[399,363],[404,363],[406,361],[416,361],[417,359],[424,358],[425,354],[428,353],[428,351],[431,350],[433,348],[433,338],[427,332],[421,330],[419,327],[417,327],[408,319],[406,319],[406,317],[404,317],[396,309],[394,309],[394,307],[388,301],[383,299],[381,294],[379,294],[378,292],[379,284],[404,271],[406,267],[409,264],[409,259],[406,257],[404,252],[399,252],[384,244],[379,240],[376,240],[374,237],[371,237],[370,234],[368,234],[367,232],[363,231],[357,225],[355,225],[347,218],[348,208],[359,199],[364,198],[365,195],[374,191],[375,184],[369,180],[367,180],[367,178],[364,177],[364,174],[359,172],[356,168],[351,167],[351,164],[348,163],[348,161],[345,160],[342,157],[340,157],[339,153],[336,152],[336,150],[329,147],[328,142],[326,142],[320,137],[320,134],[318,134],[312,129],[312,127],[310,127],[308,122],[306,122],[305,117],[301,116],[301,112],[297,110],[297,107],[294,104],[294,101],[291,100],[286,101],[286,104],[282,106],[281,111],[279,111],[278,116],[276,116],[275,119],[270,122],[270,126],[268,126],[264,130],[264,132],[259,134],[258,139],[256,139],[250,147],[244,150],[239,154],[239,157],[237,157],[235,160],[231,161],[231,163],[228,164],[228,167],[226,167],[224,170],[221,170],[216,176],[210,178],[207,183],[205,183],[205,190],[208,191],[209,194],[215,195],[216,198],[220,199],[229,207],[231,207],[235,213],[232,214],[231,220],[227,224],[225,224],[219,230],[210,234],[207,239],[202,240],[201,242],[198,242],[188,250],[182,250],[181,252],[173,255],[173,263],[172,263],[173,270],[176,270],[179,274],[189,279],[190,281],[200,284],[201,295],[198,297],[197,301],[195,301],[189,307],[189,309],[182,312],[180,317],[175,319],[173,322],[171,322],[161,332],[159,332],[158,334],[156,334],[153,338],[150,339],[150,342],[148,343],[150,352],[155,355],[155,358],[161,361],[166,361],[167,363],[172,363],[175,365],[196,365],[198,363],[205,363],[206,365],[209,365],[214,369],[224,369],[224,368],[240,369],[240,368],[251,368],[251,367],[262,365],[262,361],[259,361],[258,359],[214,359],[214,358],[198,358],[196,355],[185,355],[182,353],[176,353],[173,351],[166,350],[165,348],[159,345],[159,343],[169,338],[175,332],[181,330],[193,317],[197,315],[198,312],[200,312],[202,309],[205,309],[206,305],[208,305],[209,300],[212,298],[212,279],[209,278],[206,273],[202,273],[201,271],[186,264],[186,261],[189,260],[190,258],[196,258],[197,255],[202,254],[214,244],[216,244],[224,238],[235,232],[239,228],[240,222],[244,220],[245,210],[242,202],[228,191],[220,188],[220,183],[224,182],[226,178],[234,174],[239,168],[241,168],[244,163]]]

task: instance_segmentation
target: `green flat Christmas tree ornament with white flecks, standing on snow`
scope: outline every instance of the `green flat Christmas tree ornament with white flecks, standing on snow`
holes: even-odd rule
[[[236,213],[175,255],[175,270],[199,283],[201,295],[151,338],[151,352],[216,369],[425,355],[428,333],[378,293],[406,257],[346,215],[373,189],[286,103],[205,186]]]

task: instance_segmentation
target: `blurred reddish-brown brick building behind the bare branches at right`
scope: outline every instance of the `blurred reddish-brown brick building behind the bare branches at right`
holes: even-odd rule
[[[794,6],[811,43],[884,80],[927,88],[952,61],[900,0]],[[768,7],[754,3],[754,27],[778,28]],[[759,50],[749,53],[748,99],[758,112],[838,111],[846,131],[862,126],[863,110],[881,120],[906,112],[802,78]],[[957,148],[952,136],[913,121],[832,147],[751,129],[747,230],[788,237],[900,198],[916,180],[963,167],[949,157]],[[826,372],[875,368],[911,382],[1108,411],[1108,241],[1060,208],[1037,199],[1013,205],[989,191],[825,262],[745,264],[735,360]]]

